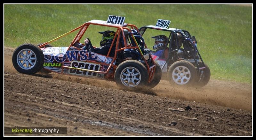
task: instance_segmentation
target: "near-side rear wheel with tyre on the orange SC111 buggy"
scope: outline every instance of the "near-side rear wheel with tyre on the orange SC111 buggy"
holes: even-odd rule
[[[115,81],[124,90],[142,89],[148,82],[148,70],[139,61],[126,60],[116,68]]]

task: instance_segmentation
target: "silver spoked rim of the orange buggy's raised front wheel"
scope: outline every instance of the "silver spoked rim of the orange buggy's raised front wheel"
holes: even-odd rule
[[[17,63],[24,70],[32,69],[36,65],[36,54],[31,49],[22,49],[17,55]]]

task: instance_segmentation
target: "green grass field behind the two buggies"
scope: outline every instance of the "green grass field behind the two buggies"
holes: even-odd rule
[[[16,48],[25,42],[50,41],[92,19],[108,15],[125,17],[137,27],[155,25],[158,18],[171,20],[170,27],[188,30],[196,36],[198,49],[215,79],[252,83],[252,7],[240,5],[4,5],[4,45]],[[101,34],[109,28],[90,26],[89,37],[99,46]],[[112,30],[112,29],[111,29]],[[114,30],[116,31],[116,30]],[[77,32],[53,42],[67,46]],[[148,46],[156,30],[143,36]]]

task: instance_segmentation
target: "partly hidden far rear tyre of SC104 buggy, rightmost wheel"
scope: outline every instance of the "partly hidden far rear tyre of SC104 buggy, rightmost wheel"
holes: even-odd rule
[[[199,86],[199,87],[205,86],[209,82],[210,77],[211,77],[211,71],[210,71],[209,67],[206,64],[204,64],[204,65],[205,65],[205,68],[202,71],[203,73],[197,79],[198,80],[197,86]],[[199,63],[199,66],[203,67],[203,63]]]

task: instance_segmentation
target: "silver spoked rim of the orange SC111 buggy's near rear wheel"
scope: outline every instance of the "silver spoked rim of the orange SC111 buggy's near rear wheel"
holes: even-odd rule
[[[122,70],[120,79],[123,85],[127,87],[136,87],[140,84],[140,71],[134,67],[126,67]]]

